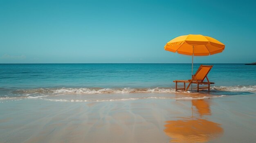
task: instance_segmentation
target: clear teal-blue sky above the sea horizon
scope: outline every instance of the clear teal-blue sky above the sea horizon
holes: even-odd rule
[[[195,63],[256,62],[254,1],[0,0],[0,63],[191,63],[164,51],[202,34],[226,45]]]

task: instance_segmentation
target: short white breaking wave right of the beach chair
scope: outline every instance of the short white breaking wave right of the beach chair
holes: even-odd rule
[[[222,91],[256,91],[255,86],[213,86],[212,89]]]

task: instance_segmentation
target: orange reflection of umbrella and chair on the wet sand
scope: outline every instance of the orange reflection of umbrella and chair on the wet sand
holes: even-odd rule
[[[171,137],[171,143],[204,143],[220,136],[223,129],[220,124],[203,119],[204,115],[211,115],[208,101],[204,99],[192,100],[192,107],[198,117],[181,118],[176,121],[166,121],[164,132]]]

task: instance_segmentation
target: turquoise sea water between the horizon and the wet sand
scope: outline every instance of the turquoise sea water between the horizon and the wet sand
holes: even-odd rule
[[[256,90],[256,66],[206,65],[213,65],[208,77],[216,83],[215,90]],[[194,64],[194,73],[199,66]],[[129,89],[166,92],[174,88],[173,80],[190,78],[191,64],[0,64],[0,97],[130,92]]]

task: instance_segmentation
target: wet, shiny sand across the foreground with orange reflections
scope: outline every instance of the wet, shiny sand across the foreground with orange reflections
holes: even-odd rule
[[[0,143],[252,143],[256,140],[255,93],[202,95],[197,99],[189,95],[180,98],[179,94],[113,95],[120,97],[119,100],[105,100],[106,95],[93,96],[88,97],[101,96],[102,100],[85,102],[82,95],[63,95],[61,99],[67,101],[58,97],[1,100]],[[76,100],[71,101],[74,97]],[[124,97],[132,98],[122,100]]]

